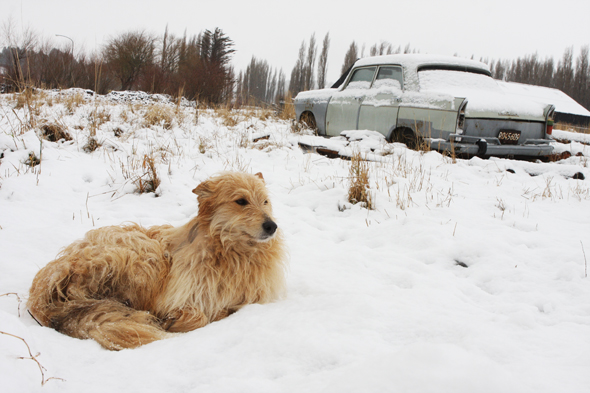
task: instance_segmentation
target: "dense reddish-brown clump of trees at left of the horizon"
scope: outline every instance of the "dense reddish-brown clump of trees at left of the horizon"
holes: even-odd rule
[[[235,75],[231,65],[233,41],[216,28],[197,35],[157,37],[131,30],[111,38],[96,53],[74,54],[73,42],[60,49],[43,42],[30,29],[15,33],[4,25],[6,45],[0,51],[4,83],[22,91],[26,86],[79,87],[105,94],[112,90],[142,90],[182,95],[205,104],[233,99]]]

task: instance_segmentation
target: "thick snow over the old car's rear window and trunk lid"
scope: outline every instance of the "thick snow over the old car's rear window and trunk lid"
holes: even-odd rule
[[[466,116],[545,120],[549,103],[511,94],[494,79],[462,71],[425,70],[418,73],[420,92],[438,92],[465,97]]]

